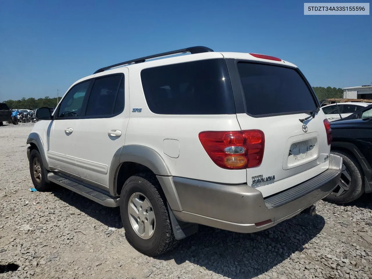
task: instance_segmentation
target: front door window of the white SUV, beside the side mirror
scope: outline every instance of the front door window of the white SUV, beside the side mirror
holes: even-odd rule
[[[58,111],[59,118],[81,116],[81,107],[83,106],[83,100],[89,84],[90,80],[87,80],[76,84],[70,89],[61,102],[60,109]]]

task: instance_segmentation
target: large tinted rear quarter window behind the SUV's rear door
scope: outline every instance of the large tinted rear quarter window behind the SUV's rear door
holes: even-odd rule
[[[148,107],[157,114],[234,114],[223,59],[200,60],[141,71]]]

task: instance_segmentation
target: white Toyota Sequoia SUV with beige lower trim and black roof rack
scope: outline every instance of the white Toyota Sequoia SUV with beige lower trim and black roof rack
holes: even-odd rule
[[[122,62],[76,81],[52,116],[39,108],[36,117],[35,188],[54,182],[120,206],[128,240],[151,256],[197,224],[272,227],[312,210],[340,178],[310,84],[272,56],[191,47]]]

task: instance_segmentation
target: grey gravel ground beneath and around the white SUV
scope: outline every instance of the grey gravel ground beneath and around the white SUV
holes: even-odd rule
[[[201,227],[154,259],[128,244],[118,208],[29,191],[31,129],[0,127],[0,278],[372,278],[371,195],[254,234]]]

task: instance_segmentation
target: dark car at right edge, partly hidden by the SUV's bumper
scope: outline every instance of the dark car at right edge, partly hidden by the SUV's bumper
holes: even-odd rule
[[[331,129],[331,153],[343,158],[343,168],[339,185],[325,199],[352,202],[372,192],[372,116],[334,121]]]

